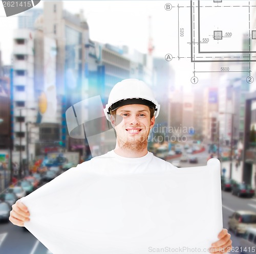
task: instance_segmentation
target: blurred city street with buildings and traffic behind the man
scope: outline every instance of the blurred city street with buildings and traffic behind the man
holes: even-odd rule
[[[256,20],[256,11],[251,16]],[[120,45],[121,38],[117,44],[93,40],[90,34],[95,31],[90,30],[83,10],[73,13],[61,1],[44,1],[16,20],[8,63],[1,57],[5,34],[0,38],[2,204],[8,200],[12,204],[78,163],[113,149],[115,135],[103,107],[117,82],[137,78],[152,87],[161,105],[148,150],[177,167],[220,159],[223,226],[230,228],[233,246],[241,246],[245,227],[240,230],[230,224],[229,216],[248,210],[248,223],[256,227],[256,81],[247,79],[256,78],[255,64],[250,63],[249,73],[248,61],[230,62],[225,68],[237,70],[231,73],[220,71],[223,62],[210,63],[208,76],[191,84],[193,72],[186,73],[187,63],[155,54],[150,15],[144,52],[125,42]],[[182,37],[181,30],[175,36]],[[248,49],[247,38],[241,36],[241,50]],[[255,51],[256,44],[250,48]],[[177,66],[183,70],[177,71]],[[186,76],[188,81],[183,79]],[[240,223],[244,215],[238,215]],[[0,252],[51,253],[29,232],[9,222],[0,224]]]

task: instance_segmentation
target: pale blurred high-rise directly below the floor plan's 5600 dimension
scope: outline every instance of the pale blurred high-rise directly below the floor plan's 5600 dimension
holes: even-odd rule
[[[248,48],[247,37],[244,36],[243,39],[244,50]],[[221,68],[225,66],[225,62],[212,64],[211,85],[218,88],[217,125],[220,145],[230,147],[231,142],[236,145],[239,140],[243,140],[244,102],[249,89],[246,82],[248,63],[229,62],[228,71],[221,72]]]

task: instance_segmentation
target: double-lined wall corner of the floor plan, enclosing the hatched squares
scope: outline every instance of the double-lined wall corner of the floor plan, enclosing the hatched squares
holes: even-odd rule
[[[236,5],[233,5],[233,3]],[[253,51],[251,47],[253,36],[250,36],[250,14],[256,12],[256,6],[247,1],[224,1],[212,6],[209,5],[209,1],[191,1],[190,4],[192,62],[256,61],[256,51]],[[237,11],[236,8],[239,8],[239,18],[236,13],[232,15],[232,12]],[[219,21],[216,18],[225,16],[227,13],[229,14],[227,22]],[[214,29],[216,27],[218,30]],[[209,35],[210,29],[214,30],[213,36]],[[246,29],[247,33],[244,41],[248,48],[241,50],[237,48],[238,44],[234,42],[241,40],[241,34]],[[221,43],[220,40],[222,40]],[[193,47],[193,44],[197,44],[197,47]]]

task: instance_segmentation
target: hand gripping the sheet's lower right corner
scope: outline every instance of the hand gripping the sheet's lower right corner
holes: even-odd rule
[[[227,232],[226,228],[223,228],[218,235],[218,240],[215,243],[211,244],[210,247],[210,253],[215,253],[215,254],[224,254],[227,253],[228,251],[231,251],[232,248],[232,241],[230,239],[230,234]]]

